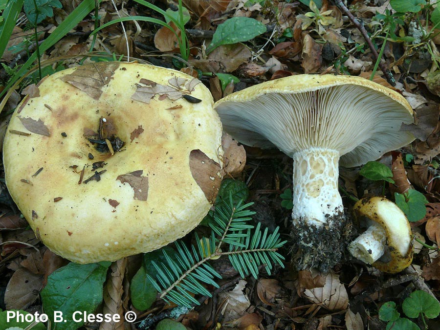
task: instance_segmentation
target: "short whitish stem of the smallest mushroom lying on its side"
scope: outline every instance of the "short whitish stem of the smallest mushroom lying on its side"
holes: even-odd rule
[[[373,264],[382,257],[385,251],[387,234],[381,225],[373,222],[360,236],[348,246],[348,250],[356,259],[366,264]]]

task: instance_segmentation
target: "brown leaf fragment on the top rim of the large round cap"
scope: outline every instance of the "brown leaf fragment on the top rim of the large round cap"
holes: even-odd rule
[[[73,73],[61,77],[61,80],[98,100],[102,94],[101,88],[110,83],[119,65],[120,62],[100,62],[78,66]]]

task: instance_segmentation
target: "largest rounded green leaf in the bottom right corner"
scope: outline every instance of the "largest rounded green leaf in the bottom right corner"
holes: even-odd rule
[[[406,316],[411,318],[417,318],[423,313],[427,318],[433,319],[440,314],[440,303],[429,293],[416,290],[403,301],[402,309]]]

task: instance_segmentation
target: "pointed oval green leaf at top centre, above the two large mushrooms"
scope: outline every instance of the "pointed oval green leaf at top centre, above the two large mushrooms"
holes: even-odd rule
[[[206,48],[206,54],[222,44],[237,44],[248,41],[266,32],[263,23],[249,17],[233,17],[224,21],[212,37],[211,44]]]

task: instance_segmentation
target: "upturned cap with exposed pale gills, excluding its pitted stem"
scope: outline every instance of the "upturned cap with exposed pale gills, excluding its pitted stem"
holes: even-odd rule
[[[413,110],[396,91],[355,76],[300,74],[229,94],[214,104],[223,129],[243,144],[292,156],[324,148],[359,166],[414,140],[400,132]]]

